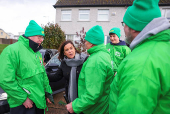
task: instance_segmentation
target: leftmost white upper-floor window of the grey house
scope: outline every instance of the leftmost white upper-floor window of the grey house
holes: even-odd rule
[[[71,21],[71,10],[61,10],[61,20]]]

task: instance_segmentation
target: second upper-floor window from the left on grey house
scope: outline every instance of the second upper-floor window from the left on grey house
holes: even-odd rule
[[[79,21],[89,21],[90,10],[89,9],[80,9],[79,10]]]

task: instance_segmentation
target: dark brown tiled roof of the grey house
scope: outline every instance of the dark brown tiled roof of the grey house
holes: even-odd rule
[[[134,0],[58,0],[56,7],[113,7],[131,6]],[[160,0],[160,6],[170,6],[170,0]]]

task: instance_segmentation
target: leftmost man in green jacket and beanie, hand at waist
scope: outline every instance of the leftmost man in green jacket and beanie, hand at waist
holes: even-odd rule
[[[44,29],[31,20],[18,42],[0,55],[0,87],[8,95],[10,114],[44,114],[45,92],[52,90],[39,52],[43,36]]]

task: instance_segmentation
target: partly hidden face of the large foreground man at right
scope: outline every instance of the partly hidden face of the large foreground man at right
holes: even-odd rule
[[[124,26],[124,32],[125,32],[125,42],[130,44],[133,40],[131,29],[125,24]]]

